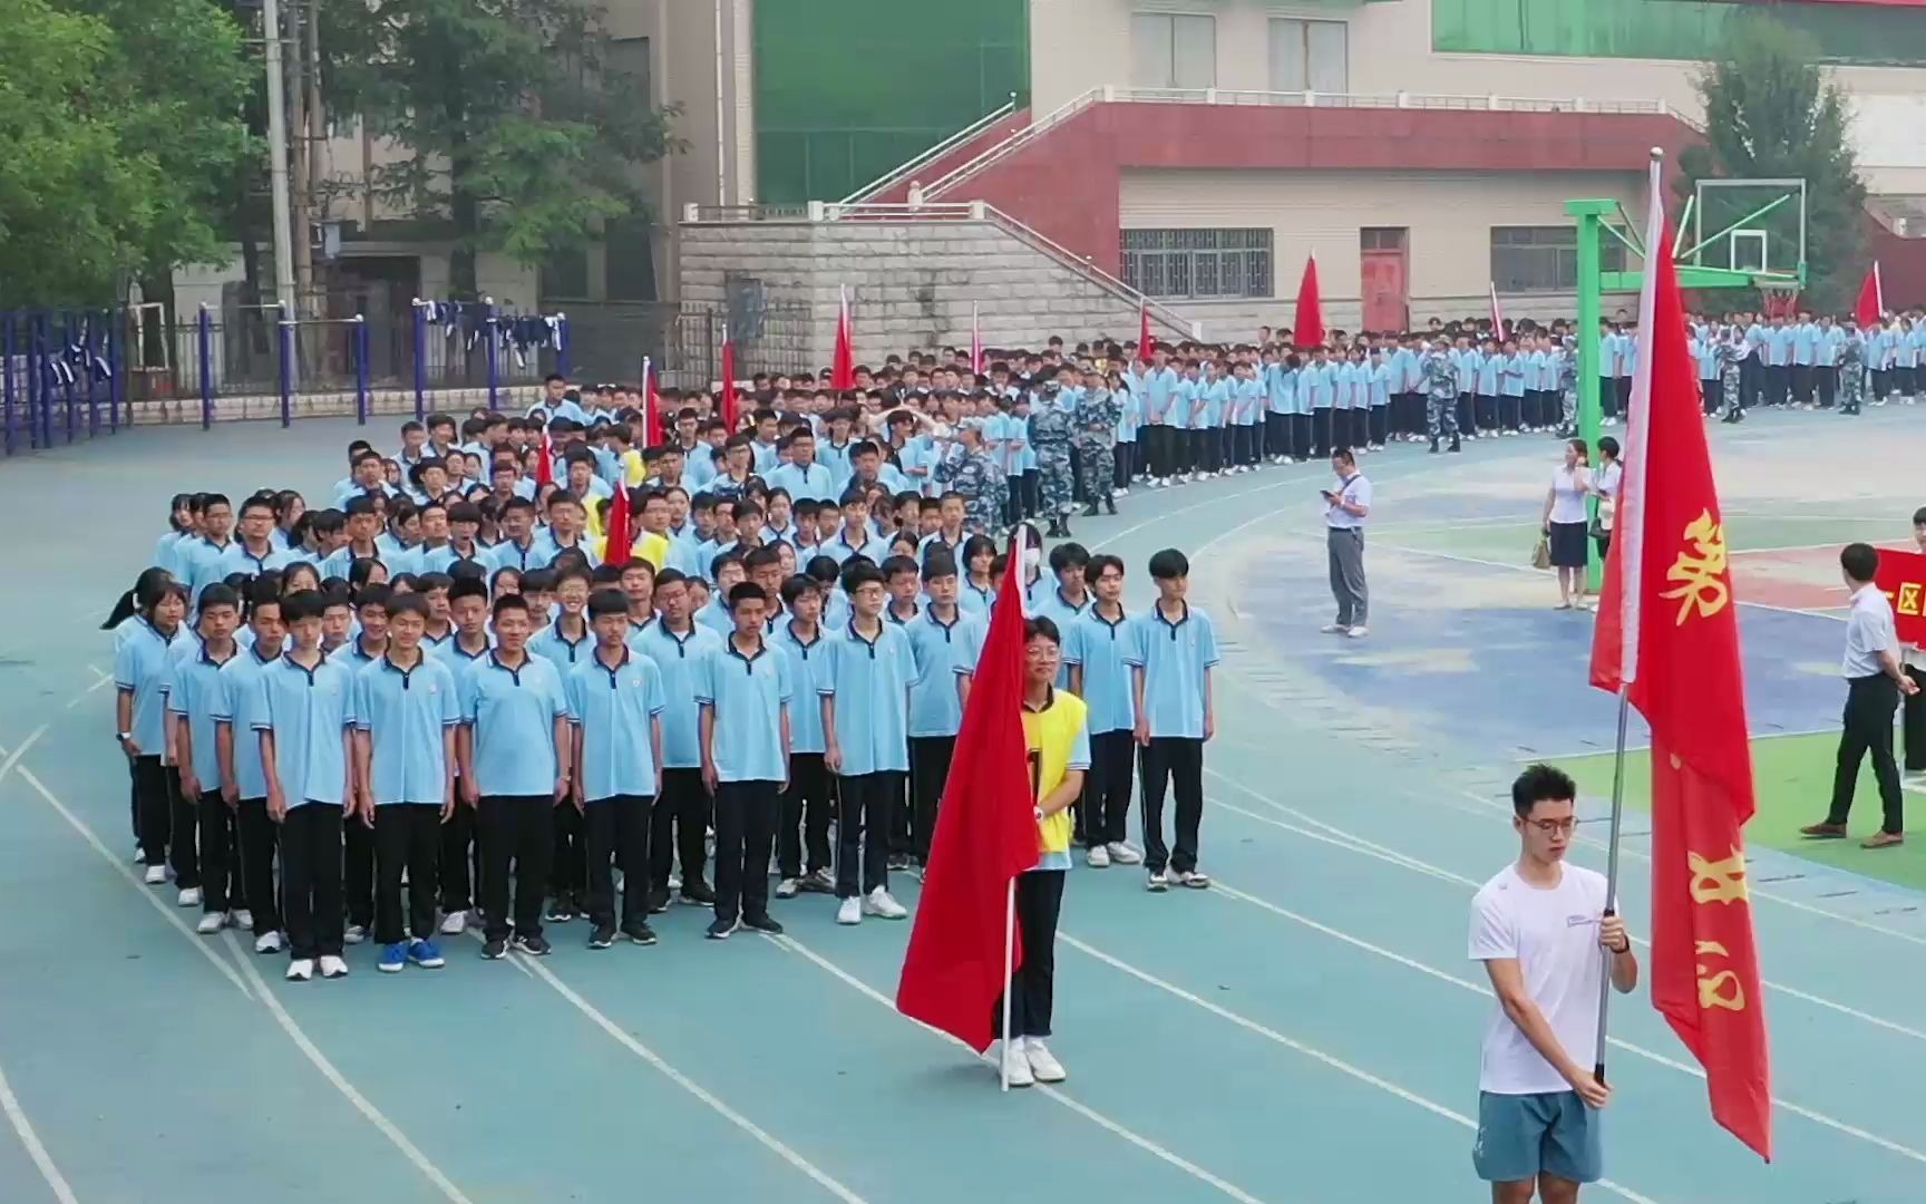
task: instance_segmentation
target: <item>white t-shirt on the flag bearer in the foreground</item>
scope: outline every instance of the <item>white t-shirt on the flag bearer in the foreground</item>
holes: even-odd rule
[[[1545,1013],[1558,1044],[1579,1065],[1591,1065],[1599,1040],[1599,919],[1604,915],[1604,875],[1564,865],[1558,886],[1541,890],[1518,877],[1514,865],[1479,888],[1471,900],[1471,959],[1514,957],[1525,994]],[[1477,1088],[1500,1096],[1572,1090],[1545,1061],[1525,1033],[1495,1000],[1485,1021]]]

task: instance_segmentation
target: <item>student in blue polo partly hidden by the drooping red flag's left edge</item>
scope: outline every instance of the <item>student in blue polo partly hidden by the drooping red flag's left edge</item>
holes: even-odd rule
[[[957,563],[948,551],[932,553],[923,564],[923,588],[928,603],[903,626],[915,659],[915,684],[909,688],[909,844],[913,873],[919,875],[930,863],[936,805],[950,780],[963,703],[988,634],[984,615],[969,615],[957,605]]]

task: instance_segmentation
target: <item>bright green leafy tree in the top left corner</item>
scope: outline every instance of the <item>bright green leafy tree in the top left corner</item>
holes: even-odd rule
[[[225,258],[254,152],[241,29],[210,0],[0,0],[0,306],[85,306]]]

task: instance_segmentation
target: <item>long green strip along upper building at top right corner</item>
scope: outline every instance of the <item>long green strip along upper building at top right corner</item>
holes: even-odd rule
[[[1431,0],[1433,50],[1678,58],[1718,54],[1726,21],[1764,4],[1701,0]],[[1926,65],[1926,10],[1870,4],[1770,4],[1818,40],[1830,62]]]

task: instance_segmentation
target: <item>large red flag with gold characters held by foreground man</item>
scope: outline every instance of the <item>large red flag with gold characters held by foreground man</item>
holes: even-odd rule
[[[1645,245],[1672,247],[1656,212]],[[1739,616],[1670,256],[1647,277],[1591,682],[1624,690],[1653,728],[1653,1006],[1705,1067],[1712,1119],[1772,1158]]]

